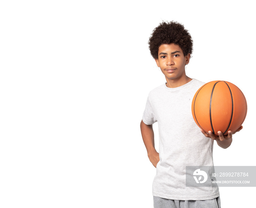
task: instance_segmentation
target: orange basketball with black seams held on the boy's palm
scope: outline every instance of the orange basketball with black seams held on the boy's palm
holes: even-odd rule
[[[244,122],[246,113],[244,94],[230,82],[208,82],[197,90],[192,101],[193,118],[206,133],[235,132]]]

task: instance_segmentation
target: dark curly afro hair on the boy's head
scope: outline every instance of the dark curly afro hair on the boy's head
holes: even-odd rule
[[[148,44],[154,59],[158,59],[159,46],[163,44],[176,44],[183,50],[184,56],[192,54],[193,40],[183,24],[178,22],[162,22],[151,34]]]

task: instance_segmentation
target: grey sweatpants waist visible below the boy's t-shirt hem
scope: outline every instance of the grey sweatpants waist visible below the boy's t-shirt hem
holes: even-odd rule
[[[154,208],[221,208],[221,198],[210,200],[172,200],[153,196]]]

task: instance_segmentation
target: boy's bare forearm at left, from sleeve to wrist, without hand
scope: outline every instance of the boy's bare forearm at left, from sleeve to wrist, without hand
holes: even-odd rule
[[[146,125],[143,121],[141,121],[140,131],[142,134],[143,142],[147,149],[147,154],[150,155],[152,152],[156,152],[153,125]]]

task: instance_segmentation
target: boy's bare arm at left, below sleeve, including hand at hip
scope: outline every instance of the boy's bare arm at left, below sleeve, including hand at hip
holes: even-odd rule
[[[140,131],[142,135],[143,142],[147,149],[147,155],[153,166],[157,167],[159,162],[159,153],[155,150],[155,140],[153,125],[144,124],[143,121],[140,122]]]

